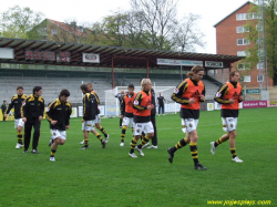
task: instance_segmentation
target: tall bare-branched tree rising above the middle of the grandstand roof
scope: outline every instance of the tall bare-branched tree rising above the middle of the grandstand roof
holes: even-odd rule
[[[141,28],[142,40],[147,40],[148,49],[172,50],[170,39],[176,27],[177,0],[132,0],[132,13]]]

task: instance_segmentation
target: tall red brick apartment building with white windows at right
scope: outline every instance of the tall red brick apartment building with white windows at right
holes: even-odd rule
[[[248,55],[246,50],[254,43],[246,39],[247,29],[244,25],[246,25],[247,21],[255,21],[258,24],[257,14],[249,11],[254,6],[254,3],[247,1],[214,25],[216,28],[217,54]],[[249,63],[238,64],[236,62],[233,64],[233,69],[240,71],[244,77],[243,85],[246,85],[247,89],[258,89],[259,82],[257,79],[259,70],[257,70],[257,65],[253,70],[248,70],[249,68]],[[218,71],[218,75],[222,75],[222,71]],[[228,80],[227,72],[224,73],[224,80]],[[268,86],[273,86],[273,79],[268,77]]]

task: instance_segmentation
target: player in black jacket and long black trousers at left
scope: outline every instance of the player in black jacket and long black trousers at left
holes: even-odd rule
[[[40,125],[41,120],[44,113],[44,100],[41,96],[42,87],[35,86],[33,87],[33,94],[28,96],[21,106],[21,117],[25,123],[24,126],[24,151],[23,153],[28,153],[28,148],[31,139],[32,127],[33,132],[33,142],[32,142],[32,151],[31,153],[38,154],[38,145],[40,138]]]

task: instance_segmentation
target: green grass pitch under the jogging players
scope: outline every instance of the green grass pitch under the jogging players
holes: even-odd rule
[[[101,124],[110,134],[106,148],[90,134],[90,148],[81,151],[81,118],[71,118],[65,145],[58,147],[57,162],[50,162],[45,120],[40,154],[16,149],[13,122],[1,122],[0,206],[201,207],[213,206],[211,200],[270,200],[270,206],[277,205],[277,108],[240,110],[236,152],[242,164],[230,161],[227,142],[215,155],[209,153],[209,142],[224,134],[220,112],[201,112],[198,156],[208,170],[193,168],[188,146],[168,163],[166,149],[185,136],[178,114],[156,116],[158,148],[144,149],[145,156],[136,159],[127,155],[130,130],[125,146],[120,147],[119,118],[102,118]]]

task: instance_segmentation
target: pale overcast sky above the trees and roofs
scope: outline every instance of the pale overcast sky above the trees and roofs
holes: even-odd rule
[[[247,0],[178,0],[178,17],[194,13],[202,17],[197,28],[205,33],[205,49],[197,49],[201,53],[216,53],[215,28],[234,10]],[[42,12],[44,18],[57,21],[75,19],[78,22],[95,22],[112,12],[130,9],[130,0],[1,0],[0,13],[9,8],[20,6],[29,7],[35,12]]]

